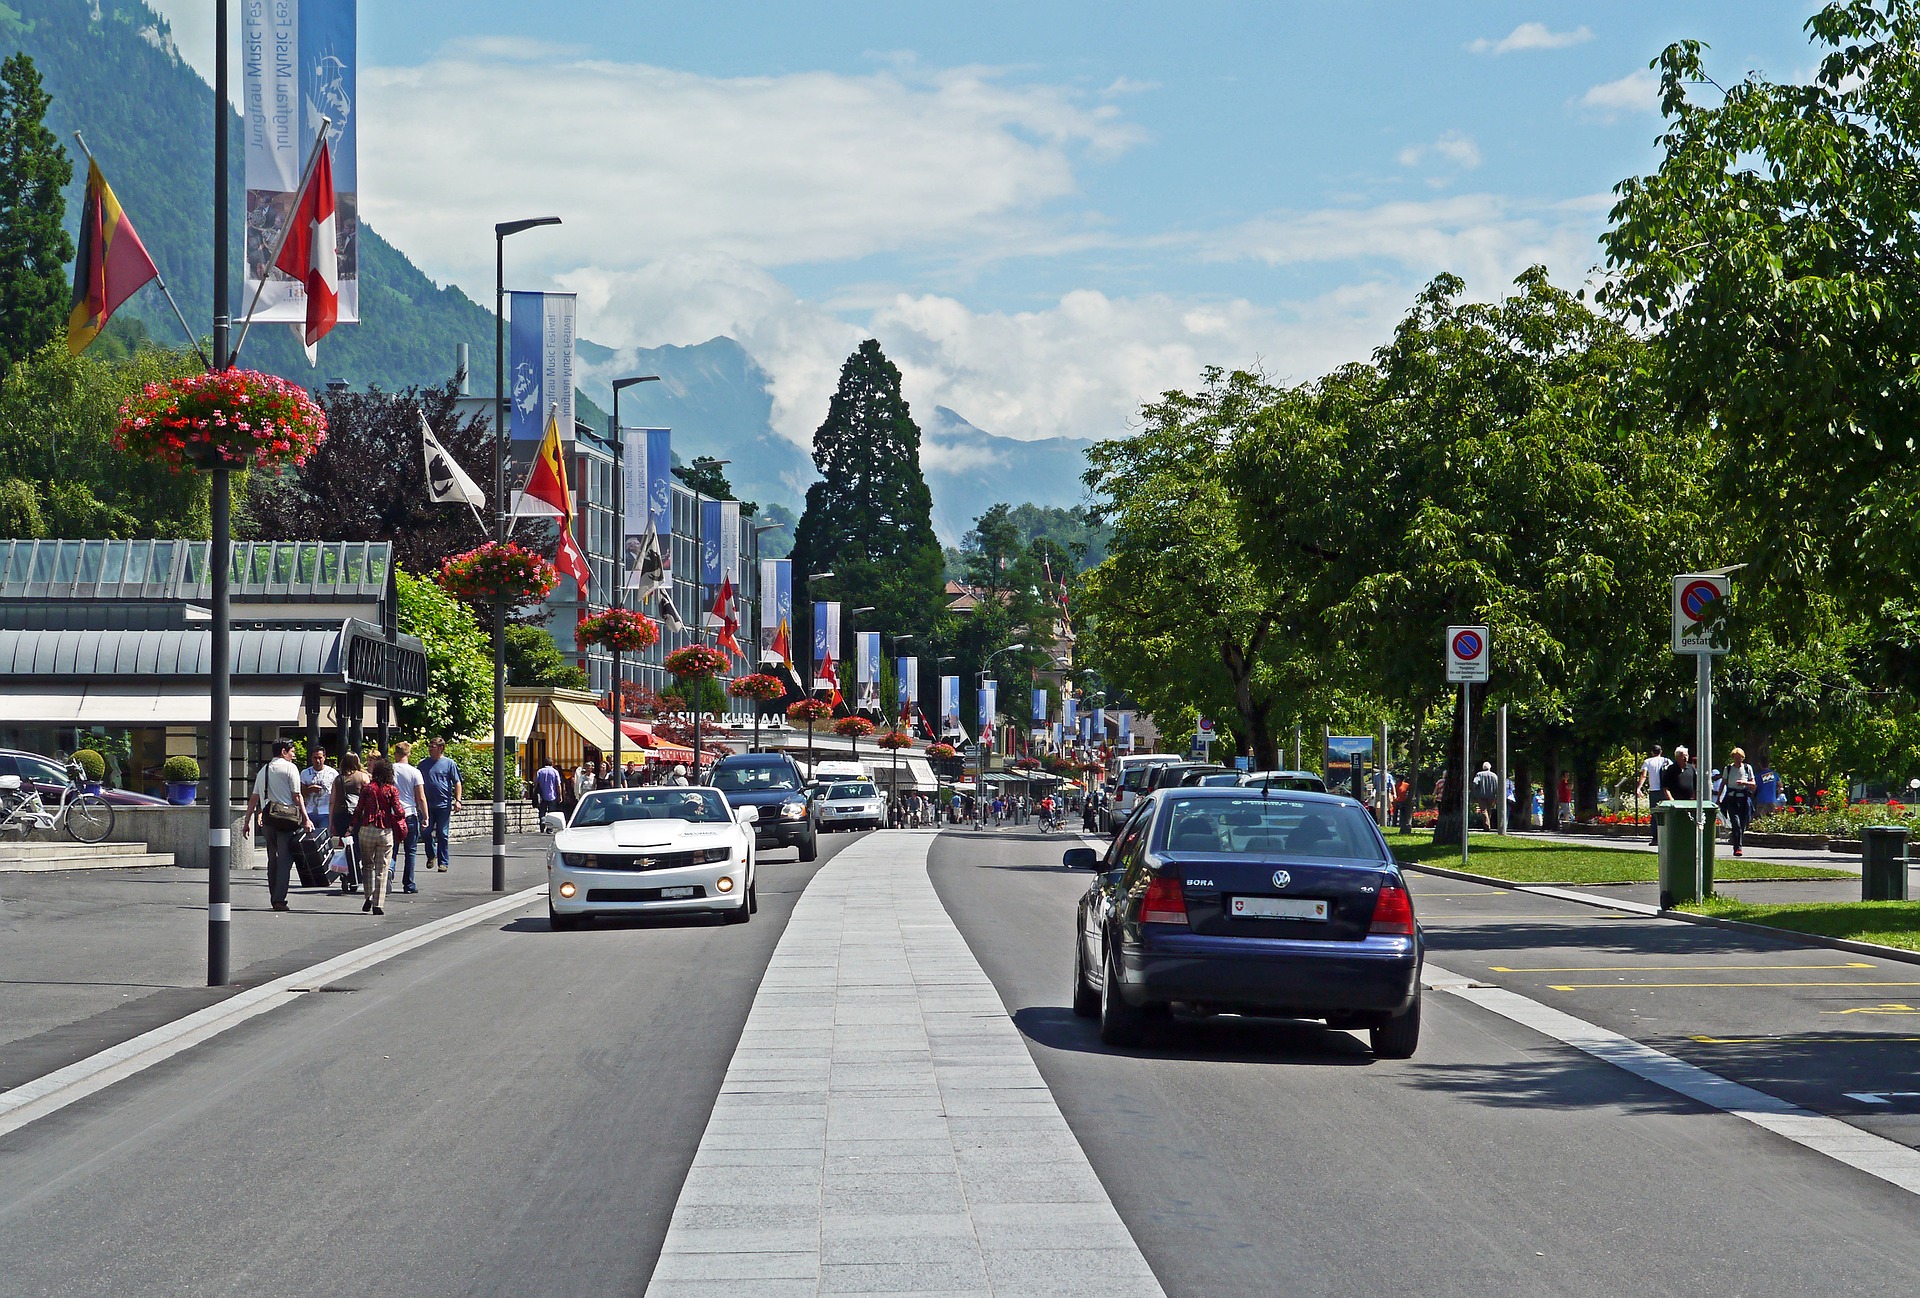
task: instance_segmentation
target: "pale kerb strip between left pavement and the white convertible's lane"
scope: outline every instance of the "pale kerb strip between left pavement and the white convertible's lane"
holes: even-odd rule
[[[420,927],[407,929],[405,933],[384,937],[376,943],[338,954],[332,960],[309,964],[298,974],[288,974],[286,977],[276,977],[271,983],[261,983],[259,987],[242,991],[227,1000],[221,1000],[219,1004],[209,1004],[205,1010],[196,1010],[186,1018],[161,1023],[159,1027],[123,1041],[117,1046],[108,1046],[100,1054],[90,1054],[84,1060],[21,1083],[12,1091],[0,1093],[0,1137],[10,1131],[19,1131],[27,1123],[38,1121],[48,1114],[58,1114],[75,1100],[84,1100],[88,1094],[104,1091],[125,1077],[132,1077],[154,1064],[171,1060],[180,1050],[188,1050],[202,1041],[219,1037],[228,1027],[238,1027],[250,1018],[288,1004],[294,997],[319,991],[321,987],[336,983],[349,974],[359,974],[361,970],[392,960],[394,956],[413,950],[415,947],[424,947],[434,939],[472,927],[474,924],[484,924],[497,914],[518,910],[545,895],[547,885],[541,883],[509,897],[499,897],[478,906],[468,906],[467,910],[442,916],[432,924],[422,924]]]

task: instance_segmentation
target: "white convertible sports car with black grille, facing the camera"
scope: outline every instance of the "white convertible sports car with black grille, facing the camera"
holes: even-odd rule
[[[747,924],[760,908],[756,816],[720,789],[593,789],[572,820],[545,818],[547,922],[570,929],[597,914],[716,912]]]

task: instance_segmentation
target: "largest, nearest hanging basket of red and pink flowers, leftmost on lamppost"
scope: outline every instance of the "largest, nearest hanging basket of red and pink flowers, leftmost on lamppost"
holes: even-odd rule
[[[119,415],[113,445],[173,472],[303,465],[326,440],[305,388],[252,369],[152,382]]]

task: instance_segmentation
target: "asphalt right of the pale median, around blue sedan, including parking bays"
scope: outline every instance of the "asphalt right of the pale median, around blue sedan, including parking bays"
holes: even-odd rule
[[[931,874],[1167,1294],[1920,1292],[1912,1194],[1448,995],[1427,995],[1407,1062],[1373,1060],[1361,1033],[1238,1020],[1108,1050],[1068,1008],[1073,902],[1089,876],[1062,870],[1060,853],[1077,843],[948,833]],[[1801,1039],[1826,1010],[1920,1004],[1920,989],[1874,985],[1920,983],[1916,966],[1716,972],[1703,966],[1853,958],[1430,876],[1413,889],[1428,954],[1453,974],[1513,979],[1663,1048],[1684,1041],[1693,1062],[1801,1102],[1868,1073],[1912,1077],[1914,1046],[1897,1041],[1836,1046],[1851,1064],[1822,1081],[1807,1062],[1822,1058],[1814,1045],[1784,1058],[1692,1037],[1766,1023]],[[1649,985],[1709,981],[1728,985]],[[1732,985],[1801,981],[1845,985],[1803,998]],[[1860,1018],[1824,1022],[1866,1035],[1851,1027]],[[1893,1018],[1870,1023],[1912,1035]]]

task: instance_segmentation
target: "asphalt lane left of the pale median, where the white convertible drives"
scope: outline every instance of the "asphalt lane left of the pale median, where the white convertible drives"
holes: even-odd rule
[[[760,974],[747,925],[543,904],[0,1137],[0,1294],[637,1294]]]

